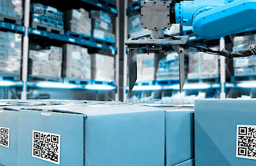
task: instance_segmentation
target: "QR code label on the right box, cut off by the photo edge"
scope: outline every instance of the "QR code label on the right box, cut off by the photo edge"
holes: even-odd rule
[[[237,125],[236,156],[256,160],[256,125]]]

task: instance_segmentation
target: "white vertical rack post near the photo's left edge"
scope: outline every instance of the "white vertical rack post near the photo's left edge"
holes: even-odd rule
[[[21,99],[27,99],[27,81],[28,81],[28,28],[29,28],[29,12],[30,12],[30,0],[25,0],[24,4],[24,27],[25,32],[23,36],[22,46],[22,93]]]

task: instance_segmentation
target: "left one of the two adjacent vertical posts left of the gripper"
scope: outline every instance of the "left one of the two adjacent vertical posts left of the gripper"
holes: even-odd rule
[[[120,9],[120,1],[116,1],[116,6],[118,9]],[[119,10],[117,10],[119,11]],[[119,15],[120,13],[118,12],[118,15],[116,17],[116,47],[117,47],[117,54],[115,56],[115,61],[116,61],[116,65],[115,65],[115,74],[116,74],[116,95],[115,95],[115,100],[119,101],[119,54],[120,54],[120,20],[119,20]]]

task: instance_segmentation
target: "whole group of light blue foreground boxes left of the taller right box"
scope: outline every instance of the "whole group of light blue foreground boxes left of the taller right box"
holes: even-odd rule
[[[1,165],[194,165],[193,109],[60,100],[1,106],[0,134],[8,135]]]

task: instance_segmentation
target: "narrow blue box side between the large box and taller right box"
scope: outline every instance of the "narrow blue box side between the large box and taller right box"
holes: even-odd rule
[[[165,109],[166,165],[194,158],[194,110]]]

